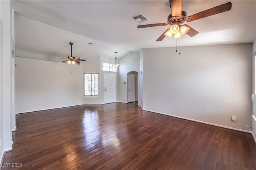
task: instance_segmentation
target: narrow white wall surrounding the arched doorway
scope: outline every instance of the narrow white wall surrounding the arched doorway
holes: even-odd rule
[[[130,55],[131,54],[131,55]],[[127,73],[130,71],[138,72],[140,74],[140,51],[132,51],[127,55],[124,55],[118,60],[119,74],[118,74],[118,101],[128,103],[127,101]],[[140,77],[138,83],[140,84]],[[138,89],[138,94],[140,94],[140,89]]]

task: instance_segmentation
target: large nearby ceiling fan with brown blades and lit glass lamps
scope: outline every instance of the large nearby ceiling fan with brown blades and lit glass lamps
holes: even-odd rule
[[[210,8],[208,10],[204,10],[202,12],[198,12],[191,16],[187,17],[187,13],[182,11],[182,0],[169,0],[170,7],[171,7],[171,14],[167,18],[166,23],[158,23],[158,24],[147,24],[147,25],[140,25],[137,28],[147,28],[147,27],[155,27],[155,26],[167,26],[170,25],[171,27],[168,28],[156,41],[162,41],[165,37],[172,38],[181,38],[185,34],[188,34],[190,37],[195,36],[198,34],[198,31],[194,30],[187,24],[182,24],[183,22],[191,22],[194,20],[198,20],[201,18],[205,18],[208,16],[212,16],[215,14],[219,14],[222,12],[229,11],[232,7],[231,2],[227,2],[220,6],[216,6],[214,8]]]

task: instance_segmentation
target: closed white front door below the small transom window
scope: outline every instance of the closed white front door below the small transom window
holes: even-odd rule
[[[116,102],[116,74],[104,73],[104,103]]]

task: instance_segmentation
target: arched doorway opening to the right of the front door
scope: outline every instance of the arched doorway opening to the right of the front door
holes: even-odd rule
[[[138,101],[138,72],[130,71],[127,73],[127,101]]]

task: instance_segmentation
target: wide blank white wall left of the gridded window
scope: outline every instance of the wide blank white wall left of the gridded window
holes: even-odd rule
[[[23,57],[16,64],[16,113],[83,104],[82,65]]]

